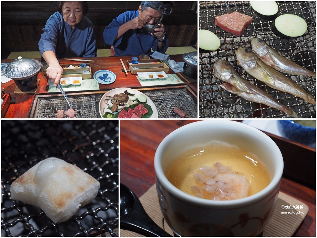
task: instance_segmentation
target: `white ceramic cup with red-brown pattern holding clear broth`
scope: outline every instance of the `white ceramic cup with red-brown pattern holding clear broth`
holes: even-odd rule
[[[272,180],[262,191],[237,200],[211,201],[186,194],[165,177],[165,169],[182,152],[209,141],[235,144],[255,154]],[[165,137],[156,150],[154,168],[165,221],[180,236],[257,236],[273,214],[283,173],[280,149],[262,131],[229,120],[193,122]]]

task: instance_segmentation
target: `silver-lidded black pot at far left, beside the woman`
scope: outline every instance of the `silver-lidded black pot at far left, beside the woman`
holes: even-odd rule
[[[37,86],[37,75],[42,67],[41,62],[19,56],[3,69],[3,74],[12,78],[22,91],[30,91]]]

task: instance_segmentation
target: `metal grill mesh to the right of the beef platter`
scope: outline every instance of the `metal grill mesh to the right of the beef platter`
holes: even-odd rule
[[[174,107],[186,114],[184,118],[197,118],[197,101],[193,100],[186,88],[144,93],[154,102],[159,118],[182,118],[173,111]]]

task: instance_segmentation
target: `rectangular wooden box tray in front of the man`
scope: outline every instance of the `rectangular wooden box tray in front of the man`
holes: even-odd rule
[[[164,71],[165,73],[168,72],[170,69],[165,63],[163,63],[160,60],[155,60],[155,59],[149,59],[149,60],[138,60],[139,63],[142,64],[132,64],[132,60],[127,60],[126,65],[129,67],[131,74],[137,74],[141,72],[160,72]],[[158,63],[154,63],[158,62]],[[137,67],[137,68],[158,68],[158,69],[133,69],[132,67]],[[160,66],[163,66],[163,68],[160,68]]]

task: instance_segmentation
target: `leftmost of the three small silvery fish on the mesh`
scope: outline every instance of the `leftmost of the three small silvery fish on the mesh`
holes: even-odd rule
[[[226,82],[220,84],[220,87],[230,93],[237,94],[251,102],[263,103],[269,107],[279,109],[289,116],[298,118],[298,115],[292,109],[277,102],[269,94],[243,79],[228,61],[218,59],[214,63],[214,75]]]

